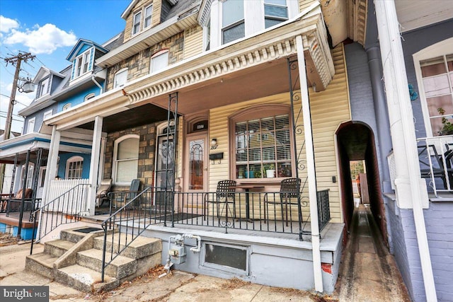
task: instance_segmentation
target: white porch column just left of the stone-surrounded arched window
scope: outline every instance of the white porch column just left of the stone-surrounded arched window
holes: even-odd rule
[[[98,172],[99,172],[99,156],[101,154],[101,138],[102,138],[103,117],[97,116],[94,119],[93,129],[93,144],[91,146],[91,161],[90,161],[90,188],[88,190],[88,211],[90,215],[94,215],[96,208],[96,189],[98,187]]]

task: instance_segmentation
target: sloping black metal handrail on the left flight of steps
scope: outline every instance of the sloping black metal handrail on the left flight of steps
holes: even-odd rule
[[[57,202],[64,202],[66,201],[67,202],[67,207],[66,209],[64,209],[64,204],[63,204],[63,207],[62,207],[62,212],[63,210],[66,210],[67,213],[69,213],[69,210],[71,210],[71,213],[72,211],[74,210],[74,205],[76,207],[79,206],[79,204],[82,204],[82,203],[74,203],[74,202],[71,202],[69,199],[65,199],[65,197],[70,197],[71,196],[71,193],[73,194],[74,196],[74,192],[76,192],[76,190],[79,190],[80,187],[88,187],[90,186],[90,184],[79,184],[79,185],[76,185],[75,187],[71,187],[71,189],[67,190],[66,192],[64,192],[63,194],[59,195],[58,197],[56,197],[55,199],[52,199],[50,202],[47,202],[46,204],[42,205],[39,209],[35,209],[35,211],[33,211],[31,213],[31,216],[33,217],[33,231],[32,231],[32,239],[31,239],[31,246],[30,246],[30,255],[32,255],[33,253],[33,243],[35,242],[35,240],[40,240],[42,237],[46,236],[48,233],[50,233],[51,231],[55,230],[55,228],[57,228],[58,226],[61,226],[62,224],[67,224],[67,223],[74,223],[76,221],[79,221],[79,216],[80,216],[80,213],[83,212],[83,211],[76,211],[75,214],[70,214],[69,216],[68,215],[65,215],[64,218],[62,215],[60,215],[60,217],[57,216],[57,214],[59,213],[59,205],[57,206],[57,211],[55,211],[55,204],[57,204]],[[84,189],[82,189],[84,190]],[[82,191],[83,192],[83,191]],[[86,194],[85,193],[85,199],[86,198]],[[69,208],[69,203],[71,202],[71,208]],[[45,208],[49,208],[49,207],[52,207],[52,211],[46,211],[46,215],[45,215],[45,233],[42,235],[42,232],[41,232],[41,229],[42,229],[42,212]],[[75,208],[77,210],[77,208]],[[37,216],[38,216],[38,212],[40,213],[40,226],[39,226],[39,238],[35,238],[35,231],[36,231],[36,221],[37,221]],[[57,213],[57,214],[55,214]],[[54,220],[54,215],[56,216],[56,219]],[[49,219],[49,216],[51,216],[51,218]],[[31,218],[30,218],[31,219]],[[47,223],[49,222],[50,220],[50,230],[47,230]],[[31,220],[30,220],[31,221]],[[55,221],[55,225],[53,224]],[[41,236],[42,235],[42,236]]]

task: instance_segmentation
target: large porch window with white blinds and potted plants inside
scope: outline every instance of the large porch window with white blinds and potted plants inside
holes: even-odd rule
[[[236,178],[292,176],[289,115],[235,124]]]

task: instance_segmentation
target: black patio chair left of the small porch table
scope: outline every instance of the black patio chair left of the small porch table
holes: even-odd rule
[[[228,216],[228,211],[230,217],[234,217],[236,208],[234,205],[235,202],[235,192],[236,192],[236,181],[235,180],[221,180],[217,182],[217,190],[215,194],[207,193],[205,195],[205,209],[204,216],[206,220],[207,214],[209,214],[209,204],[212,204],[212,207],[217,209],[217,217],[224,211],[226,208],[226,216]],[[220,205],[223,205],[222,211],[220,210]],[[232,205],[233,211],[231,211],[229,204]],[[214,209],[213,208],[213,209]],[[214,213],[214,210],[212,210]]]

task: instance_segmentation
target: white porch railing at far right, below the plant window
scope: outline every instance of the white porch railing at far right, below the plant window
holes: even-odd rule
[[[421,177],[432,192],[453,192],[453,136],[420,138],[417,148]]]

